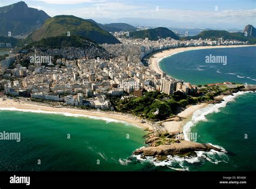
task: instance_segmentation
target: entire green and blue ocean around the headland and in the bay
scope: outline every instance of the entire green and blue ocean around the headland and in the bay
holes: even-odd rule
[[[237,64],[247,65],[251,62],[252,65],[245,66],[247,71],[237,65],[240,69],[233,69],[230,72],[254,79],[256,76],[253,75],[252,70],[255,68],[255,49],[251,47],[218,49],[218,53],[226,55],[228,52],[230,55],[231,50],[239,52],[238,55],[243,55],[238,56],[240,59],[235,58]],[[208,53],[213,55],[215,51],[216,49],[194,50],[193,53],[200,58]],[[233,53],[233,56],[237,54]],[[186,62],[187,60],[191,65]],[[163,59],[160,67],[171,68],[172,61],[177,62],[179,66],[184,65],[184,69],[187,69],[186,77],[182,76],[183,69],[174,71],[175,77],[183,78],[192,84],[221,82],[221,79],[233,82],[232,78],[241,79],[241,83],[253,83],[252,79],[246,77],[239,78],[225,74],[227,70],[224,71],[225,68],[220,65],[217,65],[219,72],[223,72],[220,79],[217,79],[219,73],[216,69],[207,68],[198,71],[202,73],[206,71],[207,74],[197,83],[195,82],[197,75],[193,75],[196,70],[192,69],[193,64],[199,63],[196,57],[191,57],[191,54],[187,52],[178,53]],[[227,58],[227,65],[231,64],[230,61],[230,58]],[[235,62],[233,65],[236,65]],[[173,75],[172,71],[165,71]],[[233,77],[230,78],[231,76]],[[234,96],[226,97],[221,104],[211,104],[194,112],[191,122],[185,125],[184,132],[197,133],[197,142],[210,143],[220,147],[224,152],[197,152],[196,158],[176,156],[168,157],[168,161],[156,161],[154,158],[144,160],[132,155],[134,150],[145,146],[143,136],[146,132],[128,123],[113,122],[110,119],[77,117],[75,114],[45,114],[8,111],[0,108],[0,132],[21,132],[20,142],[0,140],[0,153],[2,154],[0,170],[255,171],[255,110],[256,93],[239,92]],[[70,134],[70,139],[68,139],[68,134]]]

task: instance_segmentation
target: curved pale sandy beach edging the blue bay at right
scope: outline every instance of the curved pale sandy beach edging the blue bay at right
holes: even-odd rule
[[[161,73],[163,73],[163,71],[159,68],[160,60],[165,57],[172,56],[179,52],[190,51],[190,50],[199,50],[199,49],[239,48],[239,47],[246,47],[246,46],[255,46],[255,45],[191,46],[191,47],[187,47],[187,48],[176,48],[176,49],[164,50],[162,52],[156,53],[149,59],[149,66],[150,66],[150,69],[161,74]]]

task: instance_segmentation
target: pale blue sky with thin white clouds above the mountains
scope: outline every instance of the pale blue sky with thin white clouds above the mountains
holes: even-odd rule
[[[0,6],[18,2],[1,0]],[[187,28],[243,29],[256,26],[256,0],[26,0],[49,16],[74,15],[99,23]]]

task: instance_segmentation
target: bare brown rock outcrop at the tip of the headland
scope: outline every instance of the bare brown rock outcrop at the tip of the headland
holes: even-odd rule
[[[135,155],[143,154],[144,156],[169,156],[176,154],[186,154],[188,152],[194,151],[210,151],[216,150],[221,151],[217,147],[211,146],[209,144],[200,144],[192,141],[179,140],[179,143],[173,143],[170,145],[159,145],[156,147],[144,147],[134,151]]]

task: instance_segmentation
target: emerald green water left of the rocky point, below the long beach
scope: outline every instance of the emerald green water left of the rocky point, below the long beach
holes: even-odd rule
[[[111,119],[6,111],[0,132],[20,132],[21,141],[0,140],[1,171],[134,171],[131,153],[146,132]],[[40,164],[38,164],[40,163]]]

